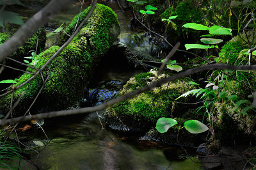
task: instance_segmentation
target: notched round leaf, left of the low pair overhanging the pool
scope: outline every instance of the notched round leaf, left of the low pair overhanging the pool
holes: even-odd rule
[[[160,133],[165,133],[170,127],[177,124],[176,120],[172,118],[159,118],[156,123],[156,130]]]

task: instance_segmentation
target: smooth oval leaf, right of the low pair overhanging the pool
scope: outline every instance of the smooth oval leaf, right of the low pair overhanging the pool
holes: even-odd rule
[[[185,121],[184,127],[191,134],[199,134],[199,133],[205,132],[206,130],[209,129],[206,125],[204,125],[204,123],[201,123],[198,120]]]

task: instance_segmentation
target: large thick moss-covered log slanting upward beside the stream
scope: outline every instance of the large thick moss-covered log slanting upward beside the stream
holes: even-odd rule
[[[73,22],[76,22],[74,20]],[[120,28],[116,14],[109,7],[97,4],[97,8],[81,31],[42,72],[44,78],[48,73],[51,76],[38,98],[38,101],[42,101],[42,103],[37,102],[35,107],[45,107],[46,111],[53,111],[66,109],[76,104],[83,96],[83,89],[92,77],[93,69],[119,33]],[[59,48],[53,46],[42,52],[36,57],[35,66],[41,68]],[[34,72],[31,68],[28,68],[27,71]],[[31,76],[24,73],[17,79],[17,84],[13,86],[19,86]],[[42,78],[38,75],[15,91],[13,101],[17,100],[21,93],[24,93],[19,106],[15,109],[16,113],[28,108],[29,102],[35,98],[42,83]],[[0,99],[2,110],[8,109],[11,96],[6,95]]]

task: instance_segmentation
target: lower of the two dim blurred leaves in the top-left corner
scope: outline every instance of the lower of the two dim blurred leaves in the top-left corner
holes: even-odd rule
[[[3,27],[3,22],[9,22],[13,24],[22,25],[23,21],[20,19],[17,13],[14,12],[0,12],[0,26]]]

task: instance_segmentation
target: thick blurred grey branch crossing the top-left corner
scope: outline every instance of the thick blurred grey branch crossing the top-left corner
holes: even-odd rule
[[[61,8],[67,6],[69,0],[52,0],[40,12],[31,17],[20,29],[0,46],[0,61],[10,56],[15,50],[24,45],[26,40],[40,27],[51,20]]]

